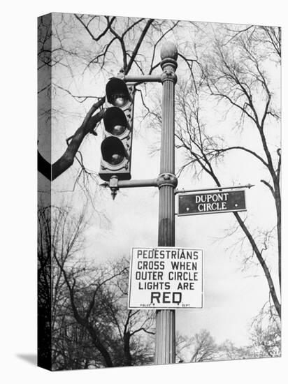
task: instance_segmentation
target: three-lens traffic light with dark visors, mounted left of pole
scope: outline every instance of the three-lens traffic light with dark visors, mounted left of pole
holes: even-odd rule
[[[103,116],[104,139],[101,143],[99,176],[108,182],[116,175],[131,179],[131,149],[134,114],[134,85],[112,77],[106,84],[106,112]]]

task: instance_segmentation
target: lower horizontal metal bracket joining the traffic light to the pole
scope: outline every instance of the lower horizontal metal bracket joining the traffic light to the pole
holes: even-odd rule
[[[143,179],[143,180],[119,180],[116,175],[110,177],[109,182],[100,184],[101,186],[109,187],[113,200],[117,195],[117,191],[120,188],[135,188],[143,186],[157,186],[159,189],[161,186],[168,185],[173,186],[175,189],[178,184],[178,179],[172,173],[161,173],[157,179]]]

